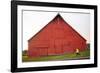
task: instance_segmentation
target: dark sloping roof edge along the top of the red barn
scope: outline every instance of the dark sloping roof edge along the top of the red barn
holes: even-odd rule
[[[75,29],[73,29],[64,19],[63,19],[63,17],[58,13],[49,23],[51,23],[53,20],[55,20],[56,18],[61,18],[74,32],[76,32],[76,34],[77,35],[79,35],[83,40],[85,40],[86,41],[86,39],[83,37],[83,36],[81,36]],[[49,24],[48,23],[48,24]],[[33,39],[36,35],[38,35],[43,29],[45,29],[47,26],[48,26],[48,24],[46,25],[46,26],[44,26],[39,32],[37,32],[34,36],[32,36],[28,41],[30,41],[31,39]]]

